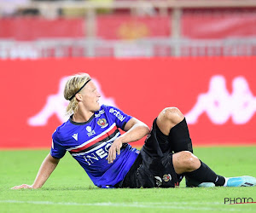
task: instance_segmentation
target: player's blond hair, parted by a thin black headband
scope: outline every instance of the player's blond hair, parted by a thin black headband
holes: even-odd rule
[[[90,80],[90,75],[87,73],[79,73],[71,76],[65,85],[64,98],[69,101],[67,106],[67,115],[71,115],[78,111],[78,100],[72,96],[76,94],[85,82]],[[71,100],[70,100],[71,99]]]

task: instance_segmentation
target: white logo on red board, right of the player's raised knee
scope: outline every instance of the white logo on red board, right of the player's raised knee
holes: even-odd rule
[[[224,76],[216,75],[211,78],[207,93],[198,95],[195,106],[185,117],[188,124],[196,124],[203,113],[213,124],[225,124],[230,118],[234,124],[246,124],[255,112],[256,97],[246,78],[234,78],[230,93]]]

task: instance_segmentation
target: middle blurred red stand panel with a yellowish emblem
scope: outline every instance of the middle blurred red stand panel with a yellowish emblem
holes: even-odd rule
[[[131,16],[129,14],[101,15],[97,19],[97,37],[134,40],[143,37],[170,37],[170,17]]]

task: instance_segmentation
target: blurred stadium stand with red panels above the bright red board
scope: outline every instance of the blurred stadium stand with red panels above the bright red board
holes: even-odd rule
[[[4,59],[256,55],[252,0],[2,0],[0,9]]]

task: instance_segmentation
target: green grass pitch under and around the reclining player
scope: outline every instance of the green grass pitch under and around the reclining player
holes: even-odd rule
[[[223,176],[256,176],[256,146],[195,147],[195,155]],[[254,204],[224,204],[224,198],[252,198],[256,187],[100,189],[67,153],[44,187],[32,184],[46,150],[1,151],[0,212],[256,212]]]

